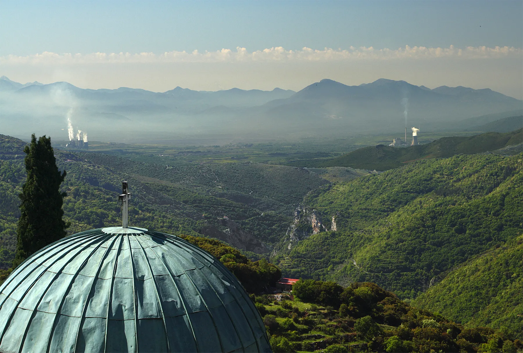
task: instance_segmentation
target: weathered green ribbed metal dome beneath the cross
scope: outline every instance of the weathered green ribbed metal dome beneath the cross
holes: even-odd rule
[[[270,351],[228,269],[139,229],[89,230],[30,256],[0,286],[0,335],[4,353]]]

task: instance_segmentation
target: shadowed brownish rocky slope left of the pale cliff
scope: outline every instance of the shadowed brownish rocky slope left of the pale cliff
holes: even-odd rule
[[[245,232],[242,228],[227,217],[218,219],[221,226],[227,227],[225,230],[213,226],[205,226],[199,230],[211,238],[217,238],[221,241],[231,244],[234,248],[252,251],[257,254],[268,253],[270,249],[264,243],[256,239],[252,234]]]

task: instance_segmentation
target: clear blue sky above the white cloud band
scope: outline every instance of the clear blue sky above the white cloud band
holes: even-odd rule
[[[523,42],[521,1],[3,1],[1,10],[0,55]]]

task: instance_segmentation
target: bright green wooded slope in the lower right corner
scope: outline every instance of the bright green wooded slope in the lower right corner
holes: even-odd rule
[[[453,270],[413,301],[465,326],[506,327],[523,335],[523,236],[497,244]]]

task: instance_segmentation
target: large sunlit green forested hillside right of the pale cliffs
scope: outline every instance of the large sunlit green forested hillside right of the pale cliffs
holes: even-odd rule
[[[313,191],[305,207],[327,230],[334,216],[337,231],[310,232],[295,246],[287,238],[274,260],[290,277],[372,281],[415,298],[442,273],[521,234],[522,158],[423,160]]]

